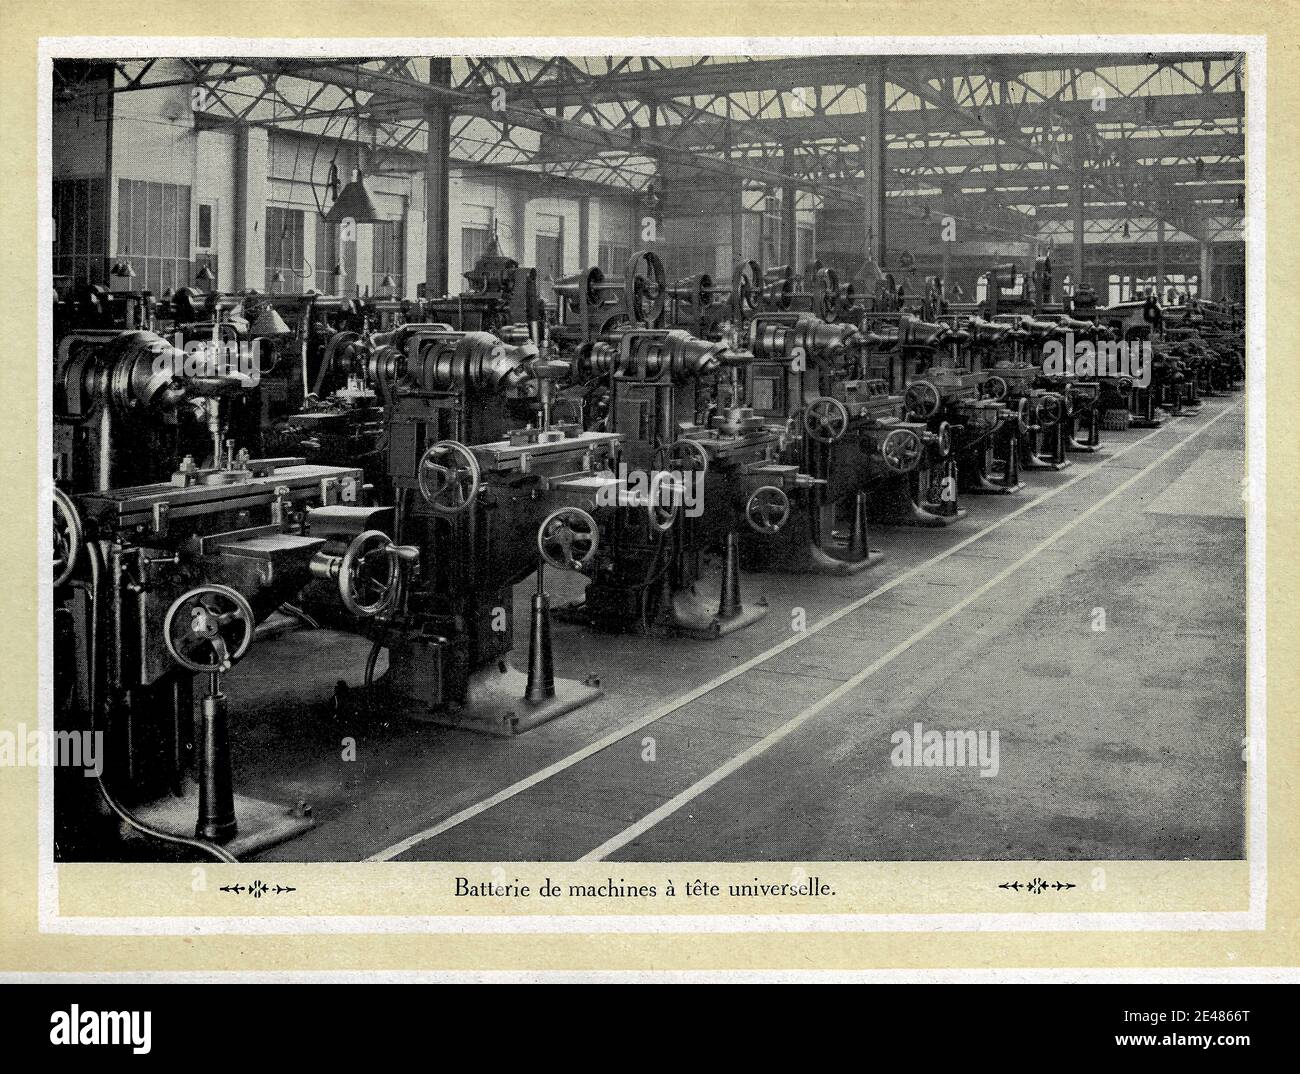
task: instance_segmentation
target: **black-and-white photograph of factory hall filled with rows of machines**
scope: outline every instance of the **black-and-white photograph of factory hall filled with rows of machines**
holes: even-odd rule
[[[58,861],[1244,857],[1244,57],[49,77]]]

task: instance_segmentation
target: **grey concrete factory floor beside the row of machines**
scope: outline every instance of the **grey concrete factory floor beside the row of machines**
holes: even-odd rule
[[[718,641],[556,623],[558,674],[594,671],[607,692],[511,740],[400,714],[339,720],[326,698],[360,681],[356,637],[255,646],[226,679],[235,787],[306,798],[318,820],[263,857],[356,861],[437,828],[400,857],[1240,858],[1240,398],[1105,447],[1028,475],[1019,495],[965,498],[948,529],[875,530],[887,559],[857,577],[746,575],[746,601],[770,612]],[[580,592],[549,581],[556,603]],[[796,637],[793,609],[811,625],[854,602],[718,681]],[[916,722],[997,729],[998,775],[894,767],[890,736]]]

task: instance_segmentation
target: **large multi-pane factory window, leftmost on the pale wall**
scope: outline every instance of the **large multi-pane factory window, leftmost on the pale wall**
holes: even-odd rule
[[[117,260],[135,272],[131,290],[160,294],[188,286],[190,187],[144,179],[120,179],[117,187]]]

